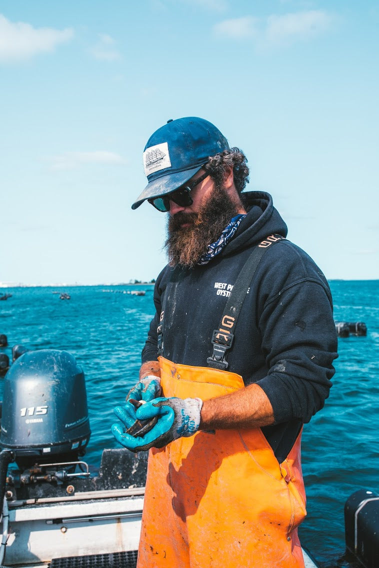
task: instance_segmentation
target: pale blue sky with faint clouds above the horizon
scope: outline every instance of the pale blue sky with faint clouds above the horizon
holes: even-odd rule
[[[329,279],[379,278],[376,0],[0,0],[0,282],[151,280],[169,118],[238,146]]]

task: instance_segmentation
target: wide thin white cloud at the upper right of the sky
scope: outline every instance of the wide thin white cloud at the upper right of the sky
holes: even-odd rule
[[[322,10],[289,14],[273,14],[268,18],[245,16],[215,24],[215,35],[229,39],[255,41],[259,47],[282,45],[299,39],[308,39],[325,32],[331,24],[331,15]]]

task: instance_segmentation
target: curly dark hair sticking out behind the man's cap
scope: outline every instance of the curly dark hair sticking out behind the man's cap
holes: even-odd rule
[[[210,156],[204,169],[210,173],[215,185],[221,186],[228,167],[233,169],[234,183],[240,194],[245,185],[249,183],[249,168],[247,157],[239,148],[230,148],[230,150],[224,150],[215,154],[215,156]]]

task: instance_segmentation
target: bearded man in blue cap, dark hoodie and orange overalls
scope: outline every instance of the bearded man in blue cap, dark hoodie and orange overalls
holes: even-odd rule
[[[168,212],[169,262],[112,427],[149,450],[138,567],[301,568],[302,425],[337,356],[328,283],[286,240],[272,197],[241,193],[247,160],[207,120],[169,120],[144,166],[132,208]]]

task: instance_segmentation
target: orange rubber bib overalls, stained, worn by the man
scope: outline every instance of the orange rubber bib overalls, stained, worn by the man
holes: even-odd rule
[[[163,396],[202,400],[240,375],[160,357]],[[281,464],[260,428],[197,432],[151,449],[138,568],[303,568],[300,435]]]

